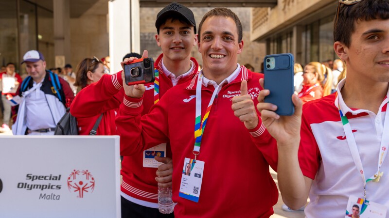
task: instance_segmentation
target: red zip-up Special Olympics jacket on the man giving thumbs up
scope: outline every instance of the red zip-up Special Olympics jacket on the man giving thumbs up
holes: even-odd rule
[[[231,109],[232,97],[240,94],[243,79],[248,81],[248,93],[254,104],[258,103],[259,78],[263,78],[263,74],[252,73],[242,66],[238,77],[225,84],[213,102],[197,156],[197,160],[205,162],[199,202],[178,196],[184,158],[195,157],[192,153],[195,144],[193,96],[197,76],[191,82],[170,89],[144,116],[141,116],[144,98],[124,96],[116,118],[121,153],[139,153],[170,140],[177,218],[268,218],[273,214],[278,190],[269,173],[269,164],[276,169],[276,145],[270,143],[273,138],[261,119],[256,128],[248,130]],[[202,86],[201,117],[213,91],[212,85]]]

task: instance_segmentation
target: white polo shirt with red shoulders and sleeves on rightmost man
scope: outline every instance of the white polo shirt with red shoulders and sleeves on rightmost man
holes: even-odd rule
[[[351,109],[340,93],[345,80],[339,82],[338,96],[331,94],[303,106],[299,162],[304,176],[313,179],[308,218],[344,217],[349,196],[362,198],[364,181],[357,170],[340,120],[338,102],[346,114],[362,161],[365,175],[377,171],[389,92],[377,114],[365,109]],[[386,121],[389,122],[389,121]],[[367,184],[367,200],[389,206],[389,162],[381,168],[384,176],[378,183]],[[389,213],[387,213],[389,218]]]

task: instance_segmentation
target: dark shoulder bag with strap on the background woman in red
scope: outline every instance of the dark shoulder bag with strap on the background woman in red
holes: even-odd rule
[[[94,136],[97,133],[97,128],[100,125],[100,121],[103,117],[103,114],[97,119],[92,130],[90,130],[89,135]],[[71,115],[70,108],[66,109],[65,115],[59,120],[58,124],[55,126],[54,130],[55,136],[76,136],[78,135],[77,119]]]

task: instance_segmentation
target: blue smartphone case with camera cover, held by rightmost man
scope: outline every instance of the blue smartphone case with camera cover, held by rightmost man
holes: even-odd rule
[[[274,63],[266,63],[267,60],[274,60]],[[264,59],[264,88],[270,90],[270,94],[265,97],[265,102],[277,105],[275,112],[278,115],[290,116],[295,112],[292,102],[293,65],[294,58],[290,53],[266,55]],[[271,67],[274,68],[270,69]]]

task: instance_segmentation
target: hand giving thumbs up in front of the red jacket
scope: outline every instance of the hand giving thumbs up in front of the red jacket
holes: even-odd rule
[[[258,125],[258,114],[254,102],[247,94],[247,81],[243,80],[240,86],[240,96],[232,98],[232,110],[234,115],[242,121],[247,129],[253,129]]]

